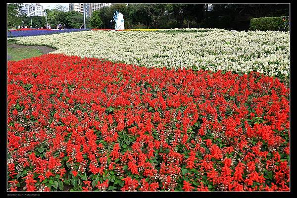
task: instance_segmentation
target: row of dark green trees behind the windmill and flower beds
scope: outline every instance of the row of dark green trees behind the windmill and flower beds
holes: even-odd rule
[[[126,29],[136,28],[225,28],[248,30],[251,18],[289,16],[289,3],[117,3],[93,12],[86,19],[87,28],[110,28],[115,10],[124,15]],[[64,11],[62,7],[47,10],[48,23],[67,28],[82,28],[83,14]],[[9,17],[8,17],[9,18]],[[32,17],[33,28],[46,27],[46,18]],[[17,16],[8,26],[31,25],[30,17]],[[112,22],[114,27],[114,22]]]

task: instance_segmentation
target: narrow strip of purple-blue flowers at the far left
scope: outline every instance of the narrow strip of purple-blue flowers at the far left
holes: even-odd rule
[[[7,32],[7,37],[28,37],[28,36],[38,36],[38,35],[45,35],[45,34],[59,34],[65,32],[80,32],[80,31],[87,31],[90,29],[64,29],[64,30],[26,30],[26,31],[10,31]]]

